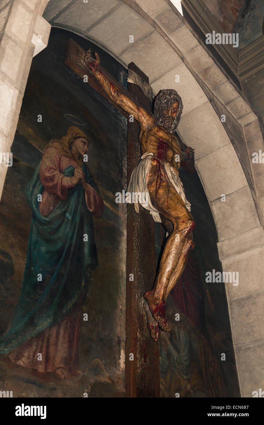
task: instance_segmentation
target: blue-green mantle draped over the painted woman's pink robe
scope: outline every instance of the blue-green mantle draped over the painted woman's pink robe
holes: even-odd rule
[[[84,133],[79,129],[79,132],[72,131],[73,128],[77,127],[70,127],[68,134],[71,137],[74,132],[75,136],[83,137]],[[67,146],[64,151],[56,150],[60,157],[68,153]],[[76,164],[74,158],[68,159]],[[39,196],[44,193],[45,187],[40,180],[40,165],[26,190],[32,221],[23,285],[9,330],[0,337],[0,353],[7,353],[40,332],[63,323],[78,306],[85,289],[86,271],[90,273],[97,266],[91,212],[94,201],[86,204],[87,193],[80,183],[74,187],[67,184],[67,193],[60,196],[60,201],[49,215],[42,215]],[[90,185],[88,192],[97,192],[94,179],[84,163],[82,170],[85,181]],[[74,166],[68,166],[62,174],[66,179],[74,176]],[[102,199],[100,195],[99,198]],[[79,320],[78,317],[75,319]]]

